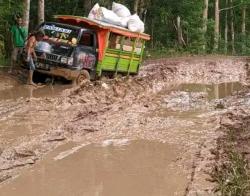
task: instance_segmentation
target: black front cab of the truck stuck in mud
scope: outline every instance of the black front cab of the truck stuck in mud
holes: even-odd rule
[[[95,71],[98,46],[93,30],[55,22],[45,22],[39,28],[45,37],[35,48],[36,71],[69,80],[77,79],[81,70]]]

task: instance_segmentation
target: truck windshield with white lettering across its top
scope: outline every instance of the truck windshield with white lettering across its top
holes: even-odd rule
[[[77,44],[77,38],[80,32],[79,29],[53,23],[45,23],[41,26],[41,29],[45,32],[46,39],[70,45]]]

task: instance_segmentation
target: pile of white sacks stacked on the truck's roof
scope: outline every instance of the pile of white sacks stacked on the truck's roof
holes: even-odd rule
[[[97,3],[90,11],[88,18],[128,28],[133,32],[144,32],[144,23],[140,17],[137,14],[131,15],[129,9],[120,3],[113,2],[112,10],[100,7]]]

